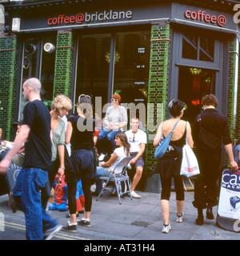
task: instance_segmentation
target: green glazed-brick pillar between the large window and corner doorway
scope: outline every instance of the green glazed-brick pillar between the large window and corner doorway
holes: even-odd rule
[[[149,174],[157,164],[154,159],[153,139],[160,122],[166,119],[170,38],[169,24],[152,26],[147,107],[148,144],[146,146],[146,172]],[[161,190],[157,175],[154,174],[148,178],[146,191],[158,193]]]

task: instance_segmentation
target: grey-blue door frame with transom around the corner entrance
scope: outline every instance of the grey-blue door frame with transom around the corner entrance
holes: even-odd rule
[[[172,41],[170,50],[170,76],[168,82],[168,102],[173,98],[178,98],[178,76],[179,67],[195,67],[200,69],[209,69],[216,71],[215,77],[215,95],[218,98],[218,110],[222,114],[227,111],[227,89],[228,89],[228,39],[229,34],[222,37],[222,32],[212,30],[198,30],[186,26],[174,26],[172,28]],[[182,58],[182,34],[201,34],[211,35],[215,39],[214,62],[196,61]],[[224,61],[225,60],[225,61]],[[166,114],[170,118],[169,110]]]

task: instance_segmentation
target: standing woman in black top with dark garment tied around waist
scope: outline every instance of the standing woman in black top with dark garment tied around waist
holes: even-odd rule
[[[82,190],[85,196],[85,213],[84,218],[78,224],[90,226],[92,206],[90,186],[94,178],[94,119],[90,96],[82,96],[78,103],[78,115],[68,118],[66,130],[66,143],[70,142],[71,144],[70,159],[72,163],[72,170],[66,174],[70,222],[62,230],[69,232],[77,232],[75,194],[77,182],[80,179],[82,179]]]

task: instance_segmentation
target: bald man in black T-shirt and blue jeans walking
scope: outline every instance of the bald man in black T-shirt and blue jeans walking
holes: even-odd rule
[[[46,185],[51,164],[50,113],[40,98],[41,86],[37,78],[23,83],[27,103],[21,130],[14,140],[14,147],[0,162],[0,174],[4,174],[11,159],[25,145],[25,159],[14,186],[14,195],[21,197],[28,240],[49,240],[62,228],[46,214],[41,202],[40,190]]]

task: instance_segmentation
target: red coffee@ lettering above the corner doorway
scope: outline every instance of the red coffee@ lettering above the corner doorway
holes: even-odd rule
[[[185,18],[190,18],[192,20],[206,23],[218,24],[218,26],[224,26],[226,24],[226,16],[222,14],[218,16],[206,14],[205,10],[198,10],[198,12],[186,10]]]

